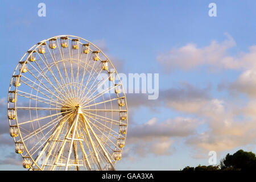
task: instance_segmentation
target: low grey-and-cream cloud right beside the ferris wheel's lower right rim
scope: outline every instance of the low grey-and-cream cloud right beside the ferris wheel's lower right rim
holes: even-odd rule
[[[146,123],[129,127],[126,144],[129,146],[129,154],[139,156],[171,155],[175,147],[172,144],[176,138],[188,137],[195,134],[195,129],[202,122],[191,118],[173,118],[164,122],[152,118]]]

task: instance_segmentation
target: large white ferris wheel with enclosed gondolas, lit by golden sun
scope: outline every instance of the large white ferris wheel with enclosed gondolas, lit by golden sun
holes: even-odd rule
[[[32,46],[11,77],[15,152],[28,170],[115,170],[128,115],[111,61],[88,40],[55,36]]]

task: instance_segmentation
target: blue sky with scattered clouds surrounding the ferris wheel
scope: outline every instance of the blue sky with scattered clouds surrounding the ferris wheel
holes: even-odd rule
[[[38,16],[40,2],[46,4],[46,17]],[[208,15],[211,2],[217,5],[217,17]],[[256,90],[250,88],[256,80],[256,51],[252,47],[256,40],[255,6],[253,0],[1,1],[0,98],[6,98],[14,68],[28,48],[52,36],[76,35],[96,46],[100,44],[107,56],[121,61],[118,72],[159,73],[158,100],[141,104],[133,95],[127,98],[128,107],[129,101],[137,105],[129,107],[130,135],[152,118],[159,129],[161,123],[175,122],[177,117],[196,120],[187,135],[172,135],[171,130],[168,137],[152,135],[152,141],[131,137],[129,141],[128,133],[126,158],[118,162],[117,169],[179,170],[188,165],[208,165],[210,150],[217,152],[218,160],[239,148],[255,153],[255,139],[246,135],[256,129],[251,108]],[[210,58],[213,56],[216,59]],[[227,57],[231,61],[226,61]],[[220,108],[214,113],[216,107]],[[214,114],[220,115],[218,121]],[[1,126],[8,125],[6,117],[1,118],[6,123]],[[226,134],[220,129],[225,121],[229,123],[226,130],[230,131]],[[177,133],[178,124],[174,125]],[[251,130],[241,126],[250,126]],[[237,134],[238,128],[241,135]],[[157,133],[151,129],[148,132]],[[162,154],[152,149],[161,142],[167,144]],[[142,143],[146,148],[138,150]],[[23,169],[2,163],[8,158],[6,154],[14,154],[13,148],[14,145],[0,143],[0,169]]]

